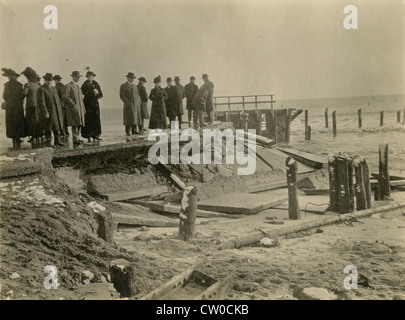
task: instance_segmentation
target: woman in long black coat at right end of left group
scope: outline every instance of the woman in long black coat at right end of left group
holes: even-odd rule
[[[86,109],[84,115],[84,127],[82,128],[82,137],[88,141],[101,140],[101,120],[100,120],[100,104],[99,99],[103,97],[100,85],[94,77],[96,74],[93,71],[87,71],[87,80],[82,84],[82,93],[84,95],[83,102]]]

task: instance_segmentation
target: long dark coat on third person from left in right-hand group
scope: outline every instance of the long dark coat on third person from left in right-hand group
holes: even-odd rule
[[[168,96],[163,88],[153,88],[149,99],[152,101],[149,129],[167,129],[166,103]]]

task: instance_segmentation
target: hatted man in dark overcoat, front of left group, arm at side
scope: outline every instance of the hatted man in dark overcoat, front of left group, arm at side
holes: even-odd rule
[[[42,128],[45,132],[45,145],[52,147],[52,131],[54,146],[64,146],[60,141],[60,132],[63,129],[62,105],[55,87],[52,87],[52,73],[43,76],[44,84],[38,89],[38,109]]]

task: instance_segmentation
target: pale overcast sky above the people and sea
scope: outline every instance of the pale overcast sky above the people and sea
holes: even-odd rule
[[[89,66],[105,94],[128,71],[208,73],[216,95],[274,93],[276,99],[405,93],[403,0],[0,0],[1,67],[26,66],[71,80]],[[45,5],[58,30],[45,30]],[[343,8],[358,9],[358,30]],[[25,80],[22,76],[20,81]],[[6,78],[0,80],[1,86]],[[107,107],[107,105],[105,105]]]

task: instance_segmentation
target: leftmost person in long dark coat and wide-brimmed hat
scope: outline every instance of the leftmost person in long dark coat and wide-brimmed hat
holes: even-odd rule
[[[6,110],[6,135],[13,140],[13,148],[21,147],[20,138],[24,137],[23,86],[17,81],[20,76],[13,69],[2,68],[3,76],[8,78],[4,84],[2,108]]]

